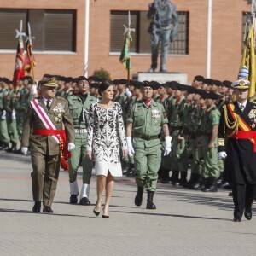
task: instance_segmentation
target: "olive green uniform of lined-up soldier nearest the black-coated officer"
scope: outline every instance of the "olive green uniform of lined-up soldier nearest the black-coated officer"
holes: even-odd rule
[[[204,178],[218,178],[218,137],[214,139],[213,147],[208,148],[212,136],[213,125],[219,124],[220,112],[218,108],[213,105],[211,108],[206,109],[205,114],[201,120],[201,149],[204,159],[204,165],[202,169],[202,177]]]

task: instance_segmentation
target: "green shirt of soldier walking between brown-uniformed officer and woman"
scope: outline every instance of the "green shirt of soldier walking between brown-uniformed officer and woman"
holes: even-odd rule
[[[89,108],[94,102],[97,102],[96,97],[87,94],[85,101],[79,97],[79,94],[67,97],[68,108],[73,119],[75,129],[87,129],[89,124]]]

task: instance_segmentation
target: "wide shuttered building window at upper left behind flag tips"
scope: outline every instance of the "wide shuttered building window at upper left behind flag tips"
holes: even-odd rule
[[[1,50],[16,49],[15,29],[20,30],[20,20],[26,34],[30,23],[34,50],[76,51],[76,11],[55,9],[0,9]]]

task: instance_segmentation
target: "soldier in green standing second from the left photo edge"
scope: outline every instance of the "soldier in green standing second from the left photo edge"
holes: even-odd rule
[[[6,151],[15,152],[17,149],[17,143],[19,141],[16,127],[16,113],[14,108],[16,93],[12,81],[6,79],[6,83],[8,83],[9,92],[3,97],[3,109],[6,111],[6,123],[11,143],[11,147],[6,149]]]

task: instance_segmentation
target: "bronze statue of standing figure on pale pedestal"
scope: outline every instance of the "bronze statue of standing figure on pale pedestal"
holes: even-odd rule
[[[154,0],[149,3],[148,19],[151,20],[148,32],[151,33],[151,67],[148,72],[157,68],[158,49],[161,42],[160,72],[166,72],[166,55],[169,42],[177,37],[178,20],[176,5],[169,0]],[[173,28],[171,21],[173,20]]]

